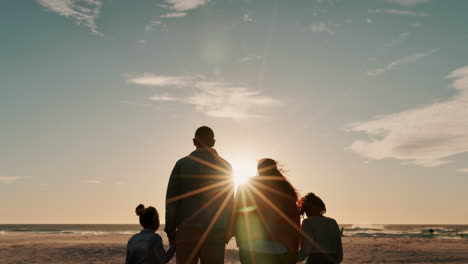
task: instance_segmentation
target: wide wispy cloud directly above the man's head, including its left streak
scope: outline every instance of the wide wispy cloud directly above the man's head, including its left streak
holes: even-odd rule
[[[262,95],[245,85],[236,85],[226,81],[207,80],[203,76],[164,76],[144,73],[141,76],[127,77],[128,83],[155,87],[179,87],[188,93],[182,97],[173,97],[168,93],[156,94],[152,101],[178,102],[192,105],[195,111],[218,118],[245,119],[264,117],[265,107],[279,105],[281,102]]]

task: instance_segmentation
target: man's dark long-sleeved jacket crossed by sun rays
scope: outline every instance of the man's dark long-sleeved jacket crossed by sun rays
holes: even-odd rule
[[[166,193],[170,239],[184,227],[227,230],[234,200],[231,165],[213,148],[198,148],[177,161]]]

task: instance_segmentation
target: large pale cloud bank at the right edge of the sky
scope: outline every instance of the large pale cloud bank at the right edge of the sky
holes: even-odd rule
[[[368,136],[349,149],[369,159],[424,167],[447,164],[450,156],[468,152],[468,66],[447,78],[454,79],[457,91],[451,99],[348,125],[349,131]]]

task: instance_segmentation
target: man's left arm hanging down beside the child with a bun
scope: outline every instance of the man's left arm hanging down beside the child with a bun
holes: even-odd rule
[[[169,238],[169,242],[172,245],[175,243],[175,234],[177,231],[177,204],[179,201],[173,200],[175,197],[179,195],[179,186],[178,186],[178,178],[179,178],[179,162],[176,163],[174,169],[172,169],[171,176],[169,177],[169,183],[167,184],[167,191],[166,191],[166,225],[164,227],[164,231]]]

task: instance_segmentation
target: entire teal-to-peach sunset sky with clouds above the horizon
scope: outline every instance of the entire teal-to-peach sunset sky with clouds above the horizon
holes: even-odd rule
[[[164,215],[208,125],[342,224],[468,224],[468,1],[30,0],[0,8],[0,223]]]

